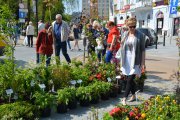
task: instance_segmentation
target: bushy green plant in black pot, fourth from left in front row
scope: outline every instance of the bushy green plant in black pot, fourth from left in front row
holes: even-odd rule
[[[91,100],[91,88],[89,86],[79,87],[76,91],[76,97],[81,106],[89,106]]]

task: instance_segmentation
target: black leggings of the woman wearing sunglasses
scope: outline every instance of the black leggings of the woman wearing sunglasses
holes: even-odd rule
[[[136,83],[134,81],[135,77],[136,77],[136,75],[128,75],[128,76],[126,76],[127,84],[126,84],[126,90],[125,90],[125,93],[124,93],[125,98],[128,97],[130,92],[133,95],[135,94],[135,91],[136,91]]]

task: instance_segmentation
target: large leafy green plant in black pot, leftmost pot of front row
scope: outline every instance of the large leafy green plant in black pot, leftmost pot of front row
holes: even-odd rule
[[[40,112],[41,117],[49,117],[51,115],[51,106],[53,105],[54,96],[49,93],[36,92],[33,95],[34,104]]]

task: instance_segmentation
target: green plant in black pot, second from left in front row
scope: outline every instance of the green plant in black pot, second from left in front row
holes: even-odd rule
[[[57,112],[66,113],[71,94],[67,88],[58,90],[57,94]]]

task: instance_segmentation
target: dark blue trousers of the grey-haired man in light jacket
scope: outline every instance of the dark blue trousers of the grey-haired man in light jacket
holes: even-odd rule
[[[69,57],[69,55],[67,54],[67,43],[65,42],[61,42],[60,45],[56,45],[55,46],[55,56],[56,56],[56,63],[59,64],[60,63],[60,50],[62,49],[62,54],[64,55],[66,61],[68,63],[71,63],[71,59]]]

